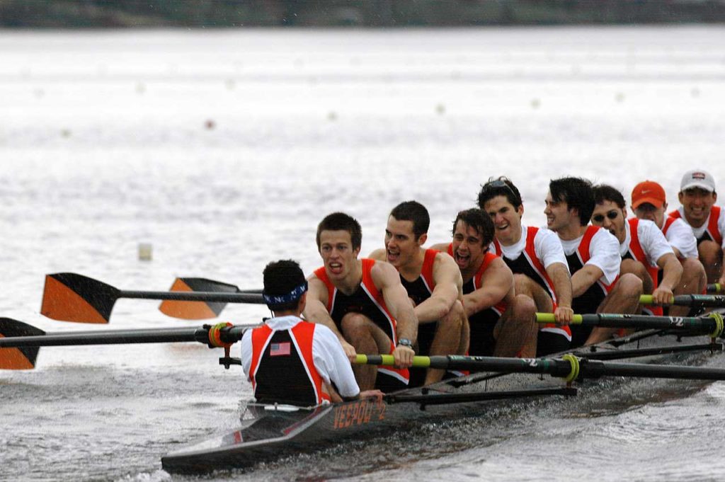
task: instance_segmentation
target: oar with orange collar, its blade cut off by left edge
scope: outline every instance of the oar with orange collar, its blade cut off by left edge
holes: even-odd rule
[[[26,370],[35,366],[40,346],[178,343],[196,341],[210,347],[232,344],[251,326],[142,328],[129,330],[46,333],[12,318],[0,318],[0,369]]]

